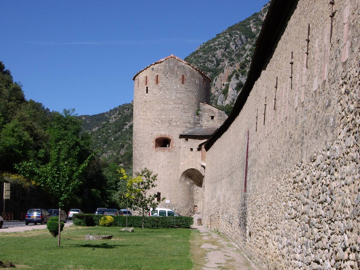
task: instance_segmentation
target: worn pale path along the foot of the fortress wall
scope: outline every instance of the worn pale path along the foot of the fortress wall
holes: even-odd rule
[[[191,252],[194,269],[259,269],[226,237],[203,226],[193,226]]]

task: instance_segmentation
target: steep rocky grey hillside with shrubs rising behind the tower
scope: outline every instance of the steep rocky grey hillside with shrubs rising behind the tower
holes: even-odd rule
[[[210,103],[228,114],[246,80],[255,42],[269,4],[270,2],[260,12],[217,34],[185,58],[185,61],[210,76]]]

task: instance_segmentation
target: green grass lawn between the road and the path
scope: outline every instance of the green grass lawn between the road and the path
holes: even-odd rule
[[[112,234],[111,240],[84,240],[85,234]],[[61,247],[48,230],[0,234],[0,260],[33,269],[191,269],[191,230],[70,227]]]

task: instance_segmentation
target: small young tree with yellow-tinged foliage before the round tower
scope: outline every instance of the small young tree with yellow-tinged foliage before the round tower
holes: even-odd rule
[[[150,208],[156,208],[160,202],[156,201],[157,194],[148,194],[150,189],[155,188],[157,174],[153,174],[148,168],[143,168],[141,172],[136,172],[135,178],[127,176],[124,169],[120,170],[122,177],[120,179],[126,180],[126,198],[129,199],[132,210],[143,216],[143,229],[145,222],[145,215],[150,211]],[[162,198],[161,201],[164,201]]]

